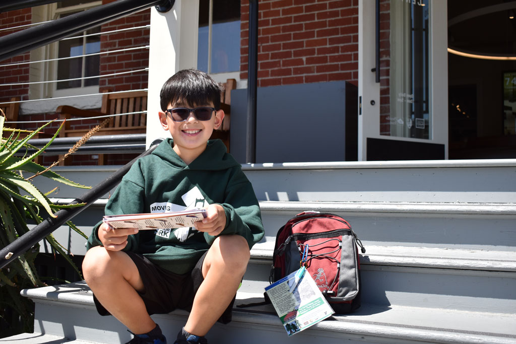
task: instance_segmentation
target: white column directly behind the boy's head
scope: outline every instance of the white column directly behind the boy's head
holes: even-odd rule
[[[157,138],[170,137],[159,124],[159,91],[174,73],[197,68],[198,23],[199,0],[175,0],[167,13],[151,9],[147,147]]]

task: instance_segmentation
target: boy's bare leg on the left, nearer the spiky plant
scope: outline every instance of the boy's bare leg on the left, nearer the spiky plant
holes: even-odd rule
[[[95,297],[131,332],[142,334],[154,329],[156,323],[137,292],[143,291],[138,268],[126,253],[91,248],[84,257],[83,274]]]

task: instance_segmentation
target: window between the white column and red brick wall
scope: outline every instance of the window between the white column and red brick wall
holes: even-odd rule
[[[240,70],[240,0],[200,0],[198,44],[199,70]]]

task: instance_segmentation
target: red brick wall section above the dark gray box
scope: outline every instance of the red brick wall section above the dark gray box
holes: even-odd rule
[[[240,78],[247,78],[249,2],[241,3]],[[259,2],[259,87],[358,85],[358,0]]]

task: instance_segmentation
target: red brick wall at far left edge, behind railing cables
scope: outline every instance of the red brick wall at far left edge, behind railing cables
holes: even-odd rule
[[[30,8],[0,13],[0,29],[30,24],[32,20]],[[23,28],[2,30],[1,36],[7,36]],[[14,56],[0,61],[1,65],[30,61],[30,53]],[[19,64],[0,67],[0,85],[12,83],[27,83],[29,81],[29,65]],[[10,97],[20,96],[21,100],[28,99],[28,85],[0,86],[0,102],[10,100]]]

